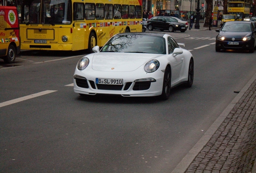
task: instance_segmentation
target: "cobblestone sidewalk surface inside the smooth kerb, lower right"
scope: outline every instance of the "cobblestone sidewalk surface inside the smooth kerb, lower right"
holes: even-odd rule
[[[256,158],[256,80],[186,173],[250,173]]]

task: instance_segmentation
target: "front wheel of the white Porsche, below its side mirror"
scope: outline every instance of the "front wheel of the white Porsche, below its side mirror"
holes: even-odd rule
[[[167,66],[165,68],[165,74],[163,76],[163,90],[161,98],[167,100],[171,93],[171,68]]]

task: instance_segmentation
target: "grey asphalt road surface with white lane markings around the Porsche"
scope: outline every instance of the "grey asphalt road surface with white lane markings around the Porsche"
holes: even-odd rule
[[[0,172],[171,172],[256,73],[256,52],[215,52],[215,31],[170,34],[195,66],[192,88],[167,101],[79,96],[83,51],[0,60]]]

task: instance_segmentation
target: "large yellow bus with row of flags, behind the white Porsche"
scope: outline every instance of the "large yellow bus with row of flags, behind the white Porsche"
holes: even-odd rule
[[[22,50],[83,50],[142,31],[142,0],[17,0]]]

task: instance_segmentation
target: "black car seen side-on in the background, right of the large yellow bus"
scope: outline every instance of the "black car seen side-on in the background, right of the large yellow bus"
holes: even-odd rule
[[[155,16],[147,21],[147,28],[149,30],[159,29],[169,30],[169,32],[180,31],[185,32],[187,30],[186,25],[176,22],[173,18],[168,16]]]

